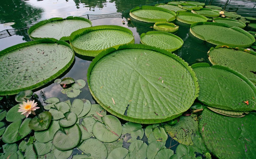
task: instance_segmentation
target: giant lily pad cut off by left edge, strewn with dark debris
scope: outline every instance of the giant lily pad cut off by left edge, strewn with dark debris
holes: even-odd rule
[[[61,75],[74,60],[64,41],[35,40],[0,52],[0,95],[36,89]]]

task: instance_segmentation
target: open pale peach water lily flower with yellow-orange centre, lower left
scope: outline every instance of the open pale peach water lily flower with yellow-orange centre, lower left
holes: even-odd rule
[[[40,107],[36,107],[37,102],[35,102],[35,103],[34,102],[35,102],[35,100],[33,100],[33,101],[27,100],[27,102],[23,102],[23,104],[20,104],[20,107],[19,107],[20,109],[18,110],[18,112],[22,112],[21,114],[24,114],[24,116],[26,116],[26,118],[31,113],[36,115],[35,110]]]

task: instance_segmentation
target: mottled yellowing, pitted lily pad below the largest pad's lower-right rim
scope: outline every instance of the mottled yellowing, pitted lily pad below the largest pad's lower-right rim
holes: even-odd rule
[[[175,125],[165,125],[165,129],[172,138],[184,145],[193,145],[191,134],[198,129],[198,119],[195,114],[181,116]]]

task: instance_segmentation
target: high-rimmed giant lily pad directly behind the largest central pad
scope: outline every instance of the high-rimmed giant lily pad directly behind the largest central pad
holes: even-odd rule
[[[134,37],[132,31],[125,27],[99,25],[73,32],[69,41],[76,53],[93,57],[107,48],[134,43]]]

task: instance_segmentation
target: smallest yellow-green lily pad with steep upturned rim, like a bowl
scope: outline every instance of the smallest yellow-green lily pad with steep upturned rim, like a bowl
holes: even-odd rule
[[[160,22],[156,22],[154,24],[154,29],[157,31],[173,33],[179,29],[179,26],[177,26],[173,23],[166,22],[166,21],[160,21]]]

